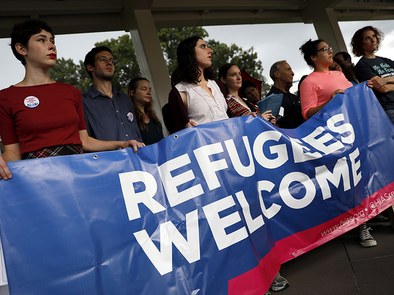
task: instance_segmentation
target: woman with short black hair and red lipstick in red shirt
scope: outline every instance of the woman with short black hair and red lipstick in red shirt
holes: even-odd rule
[[[25,66],[25,78],[0,91],[0,136],[5,162],[115,148],[144,146],[136,141],[105,142],[88,136],[81,92],[51,80],[55,36],[39,20],[17,24],[11,48]],[[1,163],[0,163],[1,166]]]

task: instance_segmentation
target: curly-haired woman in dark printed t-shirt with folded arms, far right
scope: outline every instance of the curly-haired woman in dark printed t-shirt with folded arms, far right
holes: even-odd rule
[[[356,64],[356,77],[360,82],[368,81],[386,114],[394,124],[394,62],[391,59],[378,57],[383,40],[383,33],[374,27],[367,26],[357,30],[352,38],[352,52],[362,57]]]

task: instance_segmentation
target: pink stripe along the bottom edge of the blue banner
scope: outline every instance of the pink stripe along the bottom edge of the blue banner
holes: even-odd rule
[[[229,281],[229,295],[264,294],[279,271],[280,264],[354,229],[392,205],[394,182],[370,195],[358,207],[314,228],[277,241],[258,266]],[[346,223],[351,218],[352,221]]]

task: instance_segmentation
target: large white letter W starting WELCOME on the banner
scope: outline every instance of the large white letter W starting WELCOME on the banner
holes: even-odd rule
[[[136,232],[134,236],[152,264],[161,275],[164,275],[172,271],[172,243],[189,263],[200,259],[197,210],[186,214],[186,232],[187,240],[171,221],[162,223],[160,225],[160,251],[146,230]]]

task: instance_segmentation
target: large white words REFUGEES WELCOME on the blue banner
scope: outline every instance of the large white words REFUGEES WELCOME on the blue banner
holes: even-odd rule
[[[219,200],[212,200],[213,202],[210,201],[210,204],[205,205],[205,203],[202,211],[218,249],[223,250],[230,247],[261,228],[264,225],[263,215],[270,219],[278,214],[283,206],[292,209],[307,207],[315,199],[319,187],[322,191],[321,198],[329,200],[331,198],[329,183],[338,190],[342,179],[343,191],[347,191],[351,188],[350,175],[353,176],[354,186],[360,182],[361,162],[360,159],[357,160],[360,152],[358,148],[351,145],[355,141],[353,126],[346,123],[343,114],[337,114],[328,118],[327,128],[328,130],[318,126],[302,139],[290,138],[279,131],[263,131],[258,134],[253,143],[249,143],[248,137],[243,136],[243,145],[238,144],[239,146],[236,146],[234,140],[230,139],[196,148],[193,153],[197,165],[191,165],[190,153],[185,153],[158,166],[157,171],[152,172],[153,175],[144,171],[121,173],[119,178],[129,220],[141,217],[140,204],[144,204],[154,214],[164,211],[166,209],[165,205],[168,206],[169,204],[170,207],[174,207],[203,195],[203,185],[205,183],[209,191],[212,191],[224,185],[220,181],[230,182],[231,179],[229,179],[230,177],[227,178],[228,175],[233,177],[234,174],[238,174],[240,177],[245,177],[246,180],[246,177],[255,175],[255,165],[258,164],[267,170],[269,169],[269,174],[272,174],[275,173],[275,171],[272,171],[273,169],[292,159],[292,154],[294,163],[303,163],[335,152],[335,157],[333,157],[336,160],[335,165],[329,163],[328,167],[322,165],[314,168],[315,175],[313,177],[316,181],[311,179],[313,167],[310,166],[307,169],[309,175],[305,174],[307,172],[289,171],[286,175],[280,176],[282,179],[279,184],[269,180],[260,180],[264,175],[259,176],[257,194],[261,212],[256,212],[256,207],[254,207],[253,217],[250,208],[252,205],[248,203],[243,190],[236,192],[235,197],[229,195]],[[334,137],[329,132],[340,136]],[[239,142],[239,139],[237,139],[236,143]],[[224,150],[223,144],[226,150]],[[348,146],[345,148],[344,144]],[[291,146],[291,150],[288,150],[289,146]],[[351,148],[354,150],[351,151]],[[338,152],[338,150],[341,150],[341,152]],[[346,154],[344,154],[345,152]],[[340,155],[341,158],[337,158],[336,155]],[[245,163],[242,163],[241,159]],[[249,160],[249,163],[246,162],[247,160]],[[190,165],[190,168],[187,165]],[[197,181],[195,180],[195,173],[199,173],[198,168],[203,177],[198,177]],[[352,173],[350,173],[350,170],[352,170]],[[160,179],[168,203],[161,201],[162,204],[160,204],[153,199],[157,194]],[[139,188],[138,183],[141,183]],[[245,185],[250,186],[251,183],[245,182]],[[179,191],[180,186],[182,191]],[[300,194],[300,191],[304,192],[303,195]],[[264,204],[264,196],[267,195],[275,195],[275,198],[266,199]],[[218,192],[218,196],[223,195]],[[384,198],[382,197],[382,199]],[[239,209],[239,205],[236,206],[236,201],[242,209]],[[280,205],[273,203],[273,201]],[[268,205],[269,202],[270,207],[266,208],[265,205]],[[200,204],[200,202],[197,203]],[[375,204],[373,205],[375,206]],[[200,208],[198,207],[198,209]],[[230,208],[233,212],[229,213]],[[137,242],[149,260],[162,275],[172,271],[172,243],[189,263],[200,259],[198,209],[186,214],[187,239],[177,230],[177,225],[174,225],[171,221],[160,224],[160,247],[153,242],[153,240],[158,240],[159,233],[153,233],[151,236],[154,238],[150,237],[144,229],[134,233]],[[225,216],[223,215],[225,212],[222,212],[224,210],[227,212]],[[245,224],[240,222],[242,220],[241,215]],[[237,223],[239,223],[238,228],[236,228]],[[235,224],[237,225],[234,227]]]

